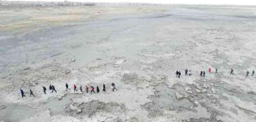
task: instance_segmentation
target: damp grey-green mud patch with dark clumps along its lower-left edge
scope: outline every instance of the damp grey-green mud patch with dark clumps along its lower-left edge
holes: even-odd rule
[[[155,87],[154,95],[150,95],[148,102],[141,105],[143,109],[148,111],[148,117],[163,116],[164,111],[194,111],[194,103],[190,102],[186,97],[177,98],[175,93],[185,93],[185,89],[176,86],[175,89],[168,88],[166,84],[160,83]]]

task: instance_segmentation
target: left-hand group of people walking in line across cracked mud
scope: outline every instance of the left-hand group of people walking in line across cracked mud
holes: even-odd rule
[[[69,85],[68,85],[67,83],[65,84],[65,86],[66,86],[66,90],[71,90],[71,89],[69,88]],[[117,89],[116,89],[116,85],[115,85],[114,83],[111,83],[111,86],[112,86],[112,91],[116,91],[116,90],[117,90]],[[46,90],[47,90],[46,87],[42,86],[42,88],[43,88],[43,93],[46,94]],[[54,87],[53,85],[51,85],[51,84],[50,84],[50,86],[49,86],[49,89],[52,90],[51,93],[53,93],[53,91],[55,91],[55,92],[57,93],[55,87]],[[76,86],[75,84],[74,84],[74,86],[73,86],[73,89],[74,89],[74,91],[78,91],[78,90],[77,90],[77,86]],[[81,92],[84,92],[84,91],[83,91],[83,88],[82,88],[82,85],[80,85],[79,90],[80,90]],[[85,86],[85,91],[86,91],[86,93],[89,93],[89,88],[88,88],[88,86]],[[105,84],[103,84],[103,89],[102,89],[102,91],[106,91]],[[98,86],[96,87],[96,92],[97,92],[97,93],[100,93],[100,88],[99,88]],[[22,94],[22,97],[26,97],[26,95],[24,95],[24,91],[23,91],[22,89],[20,89],[20,93]],[[91,94],[92,94],[92,93],[95,93],[93,86],[90,86],[90,93],[91,93]],[[35,95],[33,94],[32,90],[30,89],[30,96],[31,96],[31,95],[35,96]]]

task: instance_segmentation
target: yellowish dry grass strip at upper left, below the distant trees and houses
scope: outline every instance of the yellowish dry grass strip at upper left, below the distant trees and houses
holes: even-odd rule
[[[162,12],[167,7],[46,7],[37,9],[11,9],[0,11],[1,31],[26,30],[35,25],[56,25],[86,21],[102,15],[127,15]],[[19,19],[21,17],[21,19]]]

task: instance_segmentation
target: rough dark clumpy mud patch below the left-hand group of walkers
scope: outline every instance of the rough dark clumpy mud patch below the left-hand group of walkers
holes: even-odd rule
[[[71,116],[87,115],[92,117],[96,113],[110,113],[110,114],[120,114],[127,110],[124,104],[119,104],[116,102],[100,102],[98,100],[93,100],[86,103],[72,103],[66,108],[66,114]]]

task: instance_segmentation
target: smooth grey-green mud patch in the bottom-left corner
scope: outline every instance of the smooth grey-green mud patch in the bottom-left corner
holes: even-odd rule
[[[0,120],[4,122],[18,122],[33,116],[36,110],[19,104],[1,105]]]

